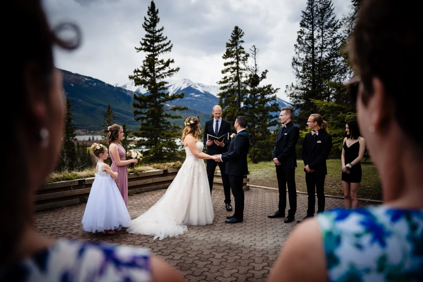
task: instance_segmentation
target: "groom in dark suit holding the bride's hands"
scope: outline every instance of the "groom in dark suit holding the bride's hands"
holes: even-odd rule
[[[247,153],[250,148],[250,138],[245,130],[247,127],[247,119],[245,117],[236,117],[233,126],[236,135],[229,144],[227,153],[219,155],[217,162],[226,163],[225,172],[228,175],[231,184],[232,194],[235,198],[235,212],[228,215],[226,223],[242,222],[244,219],[244,190],[242,184],[244,175],[248,174]]]

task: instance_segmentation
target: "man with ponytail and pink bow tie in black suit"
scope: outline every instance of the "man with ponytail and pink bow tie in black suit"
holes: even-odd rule
[[[327,175],[326,159],[332,149],[332,137],[327,133],[327,123],[320,114],[311,114],[307,120],[310,132],[305,134],[302,143],[302,160],[304,161],[305,184],[307,185],[307,215],[314,217],[317,193],[317,213],[324,211],[324,179]],[[301,222],[298,220],[297,222]]]

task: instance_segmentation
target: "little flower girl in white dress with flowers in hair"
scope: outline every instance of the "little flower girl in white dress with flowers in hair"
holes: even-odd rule
[[[97,173],[85,207],[82,227],[88,232],[105,234],[106,230],[110,230],[110,234],[113,234],[115,229],[128,227],[131,216],[114,180],[118,177],[118,173],[113,172],[104,163],[109,156],[107,147],[94,143],[91,149],[97,158]]]

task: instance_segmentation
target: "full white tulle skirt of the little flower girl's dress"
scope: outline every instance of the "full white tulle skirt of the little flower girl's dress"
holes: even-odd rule
[[[96,176],[82,217],[82,227],[87,232],[128,227],[131,216],[119,188],[110,175]]]

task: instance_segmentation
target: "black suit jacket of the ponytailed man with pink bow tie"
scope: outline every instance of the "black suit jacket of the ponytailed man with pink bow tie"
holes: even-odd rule
[[[302,143],[302,160],[304,166],[314,170],[316,175],[326,175],[326,159],[332,149],[332,137],[323,129],[318,130],[319,135],[305,134]],[[304,169],[305,171],[305,169]]]

